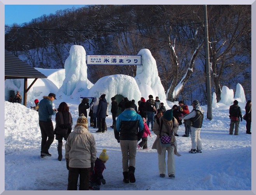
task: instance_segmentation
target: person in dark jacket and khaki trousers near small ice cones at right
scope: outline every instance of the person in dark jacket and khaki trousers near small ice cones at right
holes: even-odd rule
[[[234,135],[238,135],[238,128],[239,128],[239,117],[242,119],[242,112],[241,112],[241,108],[238,106],[238,101],[235,100],[233,102],[233,105],[231,105],[229,107],[229,117],[230,117],[230,128],[229,128],[229,134],[233,135],[233,130],[234,130],[234,126],[235,126],[235,133]]]

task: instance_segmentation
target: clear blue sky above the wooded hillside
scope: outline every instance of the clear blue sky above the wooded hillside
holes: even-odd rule
[[[5,25],[22,24],[42,15],[55,14],[57,10],[84,7],[85,5],[4,5]]]

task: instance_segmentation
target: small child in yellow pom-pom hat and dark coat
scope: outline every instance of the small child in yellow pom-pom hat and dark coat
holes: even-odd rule
[[[99,190],[101,183],[105,185],[106,180],[104,180],[102,173],[106,169],[105,162],[107,160],[108,154],[106,153],[106,149],[103,149],[99,158],[95,161],[94,169],[90,173],[90,190]]]

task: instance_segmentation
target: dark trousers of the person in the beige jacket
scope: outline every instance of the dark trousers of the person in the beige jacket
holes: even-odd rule
[[[91,168],[69,168],[68,190],[77,190],[78,176],[80,176],[79,190],[89,190]]]

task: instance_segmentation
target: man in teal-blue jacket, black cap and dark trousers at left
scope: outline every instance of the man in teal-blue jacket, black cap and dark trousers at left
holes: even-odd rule
[[[54,93],[49,93],[49,95],[44,96],[39,103],[39,127],[42,134],[41,157],[52,156],[48,150],[54,141],[54,130],[52,125],[52,115],[56,114],[56,109],[52,109],[52,101],[54,101],[54,99],[56,99],[56,95]]]

